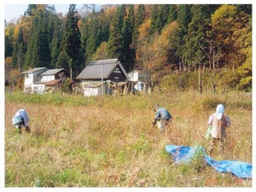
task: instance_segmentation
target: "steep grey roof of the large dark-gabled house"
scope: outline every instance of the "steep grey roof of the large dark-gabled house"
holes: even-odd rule
[[[90,61],[89,65],[79,74],[77,79],[108,79],[115,67],[119,66],[121,71],[125,74],[125,78],[129,79],[125,68],[118,59]],[[103,71],[103,74],[102,74]]]

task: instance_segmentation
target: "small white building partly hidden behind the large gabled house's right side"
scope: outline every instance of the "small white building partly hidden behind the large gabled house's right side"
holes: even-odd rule
[[[128,73],[131,79],[131,89],[136,92],[150,93],[150,73],[148,71],[135,70]]]

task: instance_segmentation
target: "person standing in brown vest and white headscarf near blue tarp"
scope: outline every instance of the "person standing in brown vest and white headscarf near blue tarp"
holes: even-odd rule
[[[220,150],[224,149],[226,138],[226,127],[230,126],[230,117],[224,115],[224,105],[218,104],[216,112],[208,119],[208,124],[212,125],[212,138],[209,143],[208,152],[211,154],[216,142],[220,145]]]

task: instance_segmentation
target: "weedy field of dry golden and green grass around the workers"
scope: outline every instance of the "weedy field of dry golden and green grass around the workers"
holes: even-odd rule
[[[252,163],[252,97],[238,92],[172,92],[90,97],[5,93],[5,187],[252,187],[203,160],[175,165],[166,144],[207,147],[207,120],[219,102],[230,116],[216,160]],[[151,127],[154,104],[173,117],[171,135]],[[31,133],[11,123],[19,108]]]

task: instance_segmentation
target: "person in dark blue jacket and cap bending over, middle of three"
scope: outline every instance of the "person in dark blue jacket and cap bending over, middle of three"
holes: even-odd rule
[[[155,112],[155,116],[154,116],[154,121],[152,122],[152,127],[158,121],[160,121],[161,123],[160,130],[163,132],[165,131],[166,127],[169,130],[171,126],[171,121],[172,121],[171,113],[168,110],[166,110],[166,108],[160,108],[159,104],[156,104],[154,106],[154,112]]]

